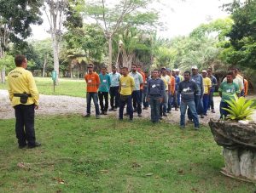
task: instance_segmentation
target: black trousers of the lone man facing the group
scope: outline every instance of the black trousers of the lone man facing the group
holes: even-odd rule
[[[35,105],[15,105],[15,117],[15,132],[19,145],[26,145],[26,141],[29,146],[35,145]]]

